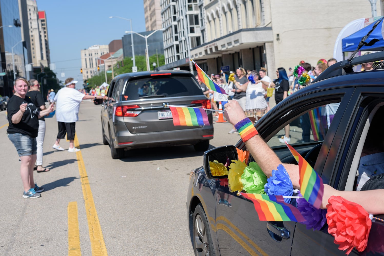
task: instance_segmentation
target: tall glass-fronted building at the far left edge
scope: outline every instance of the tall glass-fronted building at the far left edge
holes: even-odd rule
[[[8,27],[12,25],[12,27]],[[22,41],[18,1],[0,0],[0,95],[13,95],[13,63],[16,77],[24,76],[27,53]],[[13,50],[13,58],[12,58]]]

